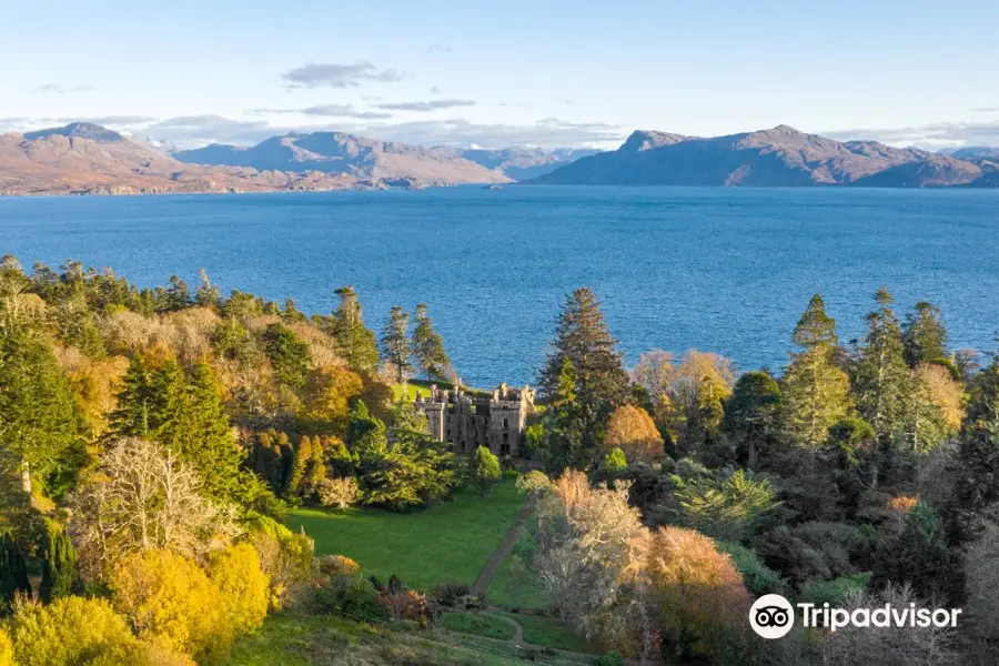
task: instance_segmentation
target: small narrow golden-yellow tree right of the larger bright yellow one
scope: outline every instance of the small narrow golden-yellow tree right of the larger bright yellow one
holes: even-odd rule
[[[270,578],[260,566],[256,548],[236,544],[212,555],[209,577],[219,588],[235,634],[249,634],[263,624],[270,605]]]

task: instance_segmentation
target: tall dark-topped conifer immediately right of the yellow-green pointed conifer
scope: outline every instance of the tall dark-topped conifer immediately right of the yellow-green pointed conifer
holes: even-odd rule
[[[867,335],[854,366],[854,394],[860,415],[887,446],[905,433],[915,382],[906,365],[898,319],[890,307],[891,294],[881,287],[875,299],[878,309],[867,315]]]

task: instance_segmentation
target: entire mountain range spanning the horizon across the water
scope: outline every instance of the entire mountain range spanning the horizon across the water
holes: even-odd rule
[[[999,186],[999,149],[840,142],[787,125],[700,138],[636,131],[617,150],[423,148],[342,132],[170,151],[101,125],[0,135],[0,194],[584,185]]]

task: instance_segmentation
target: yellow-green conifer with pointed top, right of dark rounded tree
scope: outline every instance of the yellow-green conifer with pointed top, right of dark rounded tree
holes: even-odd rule
[[[814,451],[850,411],[849,379],[833,361],[836,320],[826,314],[820,295],[809,301],[791,341],[801,351],[791,354],[781,380],[783,431],[790,442]]]

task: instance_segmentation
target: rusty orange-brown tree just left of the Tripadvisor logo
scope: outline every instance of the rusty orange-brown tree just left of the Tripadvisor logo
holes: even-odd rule
[[[663,527],[652,535],[646,573],[665,637],[678,657],[717,658],[746,626],[749,593],[731,557],[699,532]]]

